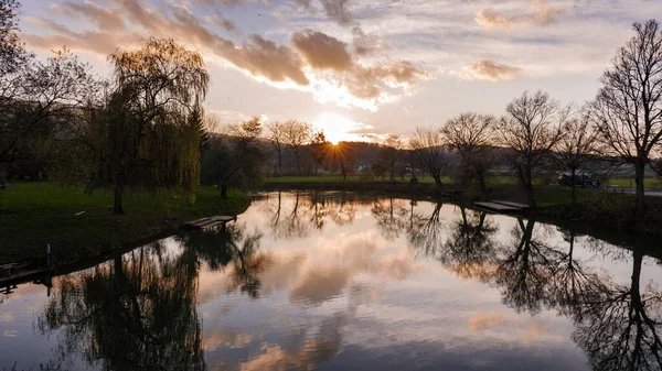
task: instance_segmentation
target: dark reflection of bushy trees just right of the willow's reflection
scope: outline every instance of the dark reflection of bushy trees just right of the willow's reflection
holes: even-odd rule
[[[264,234],[245,225],[227,225],[217,229],[184,234],[182,244],[206,262],[214,271],[229,271],[228,291],[239,290],[250,297],[259,296],[259,274],[271,263],[269,254],[259,251]]]

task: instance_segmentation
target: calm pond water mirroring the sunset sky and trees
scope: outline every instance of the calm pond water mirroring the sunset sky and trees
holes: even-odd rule
[[[342,193],[0,294],[8,370],[661,370],[661,339],[641,250]]]

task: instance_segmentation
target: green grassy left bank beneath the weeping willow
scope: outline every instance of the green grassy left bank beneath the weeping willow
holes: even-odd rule
[[[242,214],[250,198],[229,190],[221,199],[218,189],[203,187],[194,205],[168,192],[127,194],[126,215],[113,215],[111,204],[113,195],[104,190],[85,195],[50,183],[10,185],[0,190],[0,264],[43,263],[47,244],[55,265],[140,245],[175,232],[186,220]]]

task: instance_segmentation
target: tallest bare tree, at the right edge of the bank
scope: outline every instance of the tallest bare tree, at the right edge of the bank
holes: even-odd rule
[[[592,103],[592,119],[611,152],[634,165],[634,212],[645,212],[643,177],[651,151],[662,138],[662,30],[650,20],[634,23]]]

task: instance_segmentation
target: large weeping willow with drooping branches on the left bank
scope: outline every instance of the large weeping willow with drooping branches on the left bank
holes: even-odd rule
[[[150,37],[109,56],[113,88],[92,114],[98,166],[90,189],[111,186],[124,214],[128,186],[178,188],[193,200],[210,76],[202,56],[173,39]]]

